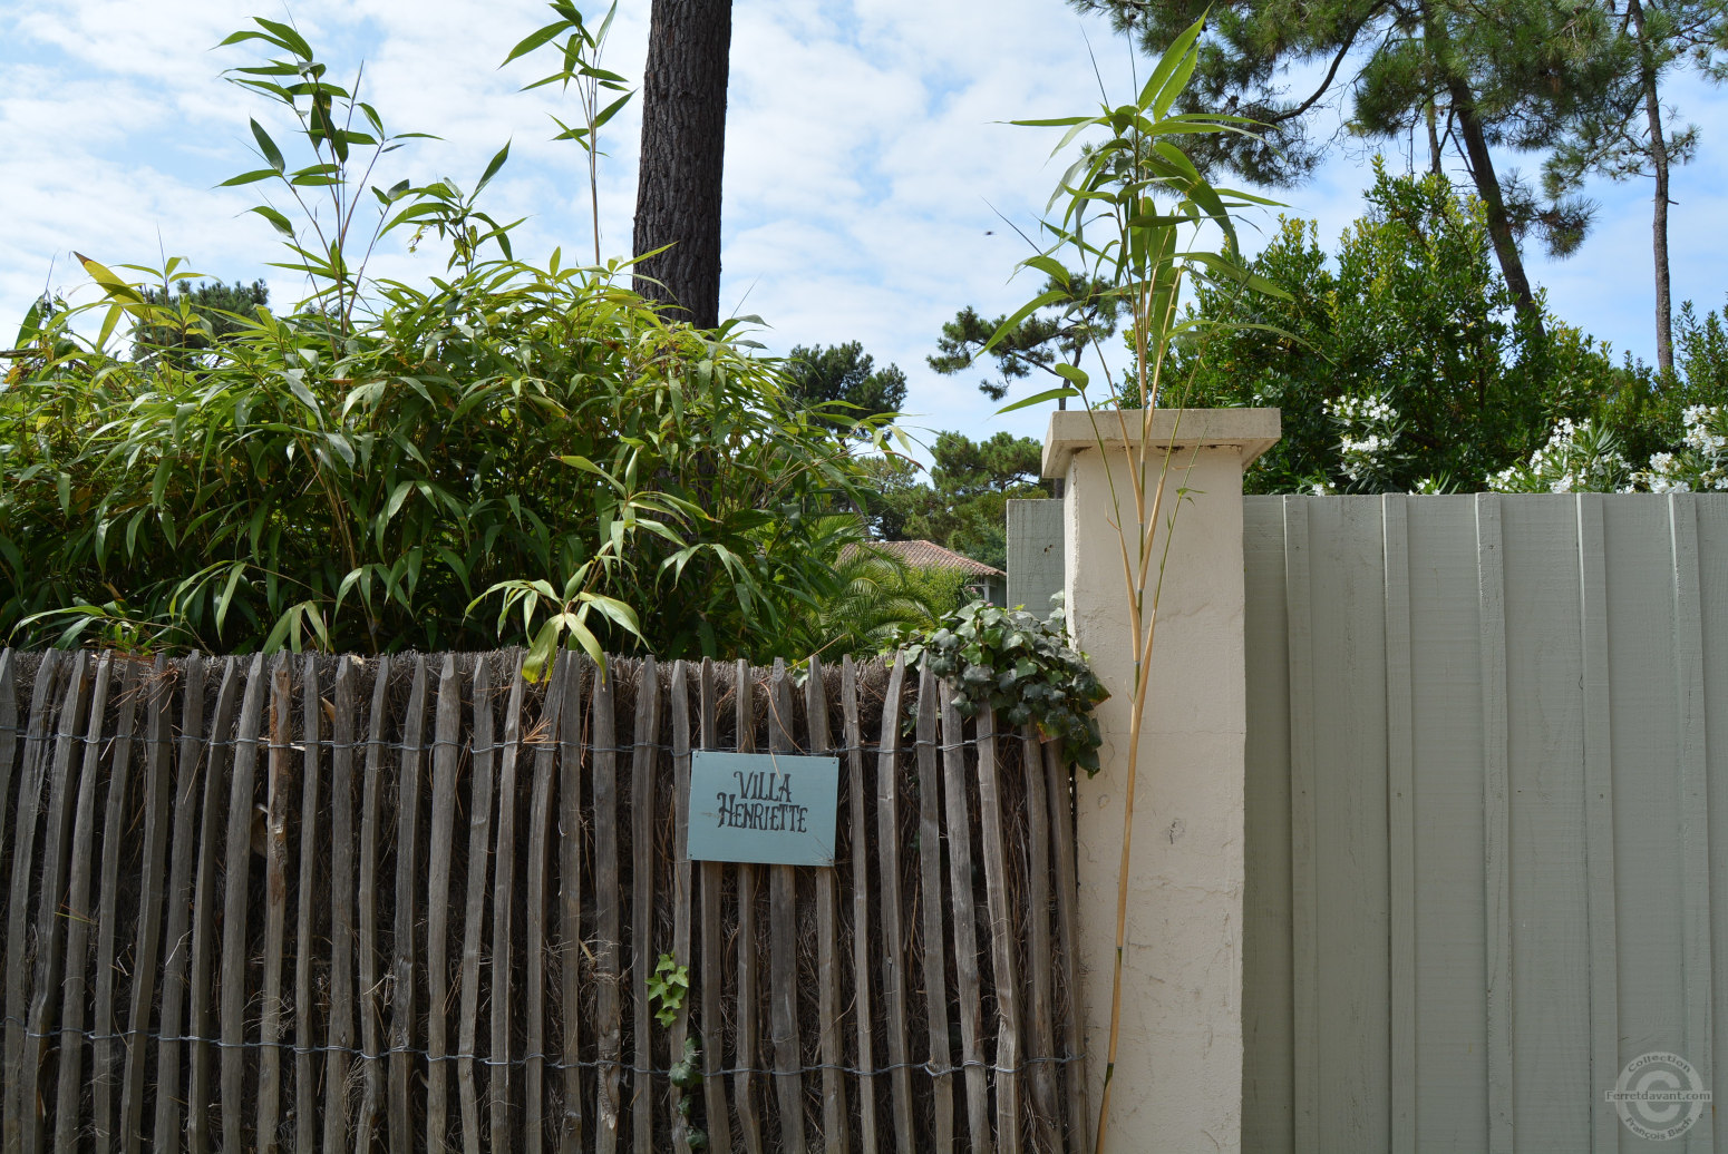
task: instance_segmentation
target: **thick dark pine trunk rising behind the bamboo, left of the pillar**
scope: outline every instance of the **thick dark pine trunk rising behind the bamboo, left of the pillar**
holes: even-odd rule
[[[714,328],[721,314],[721,166],[731,0],[653,0],[643,78],[636,187],[636,292],[676,320]]]

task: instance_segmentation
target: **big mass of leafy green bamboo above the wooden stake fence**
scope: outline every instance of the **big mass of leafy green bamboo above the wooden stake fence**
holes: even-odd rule
[[[373,187],[359,230],[356,171],[415,133],[387,136],[292,28],[257,26],[228,43],[287,55],[237,83],[290,112],[285,140],[313,162],[254,123],[268,168],[230,183],[327,197],[299,225],[259,207],[311,295],[143,363],[107,342],[123,318],[181,323],[145,288],[183,283],[178,259],[142,283],[85,259],[93,340],[79,309],[31,311],[0,392],[0,632],[230,653],[527,643],[530,665],[560,644],[804,656],[793,625],[859,536],[831,517],[859,499],[850,418],[795,403],[734,325],[664,321],[613,283],[626,266],[515,261],[510,226],[475,207],[508,149],[473,193]],[[403,225],[448,245],[446,276],[365,278]]]

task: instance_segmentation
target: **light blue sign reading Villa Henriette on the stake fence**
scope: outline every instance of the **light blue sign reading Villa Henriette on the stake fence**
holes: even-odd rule
[[[838,757],[696,750],[686,798],[689,857],[833,866],[838,800]]]

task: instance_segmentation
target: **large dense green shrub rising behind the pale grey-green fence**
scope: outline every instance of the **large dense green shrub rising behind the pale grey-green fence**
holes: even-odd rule
[[[1474,197],[1381,161],[1365,195],[1336,271],[1312,223],[1284,221],[1249,268],[1287,299],[1196,294],[1194,311],[1229,328],[1182,347],[1194,404],[1284,411],[1253,492],[1474,489],[1617,380],[1588,339],[1514,314]]]

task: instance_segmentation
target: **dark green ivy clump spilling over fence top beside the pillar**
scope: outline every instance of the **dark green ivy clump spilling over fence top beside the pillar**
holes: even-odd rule
[[[1102,738],[1092,707],[1106,700],[1085,655],[1068,646],[1063,613],[1049,618],[973,601],[923,644],[905,650],[954,684],[962,717],[995,710],[999,724],[1037,726],[1045,741],[1061,741],[1063,764],[1087,774],[1099,769]]]

